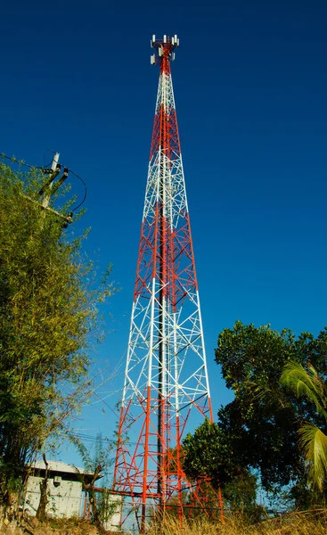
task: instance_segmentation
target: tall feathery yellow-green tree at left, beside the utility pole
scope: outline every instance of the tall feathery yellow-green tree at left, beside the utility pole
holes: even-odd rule
[[[0,504],[88,395],[88,350],[109,270],[96,283],[81,238],[41,210],[44,177],[0,163]],[[52,197],[56,208],[61,193]],[[68,204],[61,206],[67,211]],[[82,386],[83,385],[83,386]]]

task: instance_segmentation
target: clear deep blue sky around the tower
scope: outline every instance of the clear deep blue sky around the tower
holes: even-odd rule
[[[61,152],[87,184],[87,249],[122,287],[100,363],[127,347],[152,33],[180,37],[173,81],[215,412],[231,399],[214,362],[224,327],[327,324],[326,26],[324,0],[2,5],[0,152],[35,165]],[[110,436],[109,414],[89,409],[79,424]]]

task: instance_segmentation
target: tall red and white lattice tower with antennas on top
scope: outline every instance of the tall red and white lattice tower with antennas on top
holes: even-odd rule
[[[113,490],[139,530],[188,488],[181,441],[191,410],[212,422],[198,283],[170,62],[179,39],[151,39],[159,88],[136,269]],[[128,513],[127,513],[128,514]],[[125,513],[122,514],[122,523]]]

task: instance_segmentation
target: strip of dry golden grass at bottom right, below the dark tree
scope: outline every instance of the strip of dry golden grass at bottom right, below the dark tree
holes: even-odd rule
[[[229,516],[225,523],[193,521],[180,526],[175,519],[152,526],[148,535],[326,535],[327,511],[284,514],[249,525],[240,516]]]

